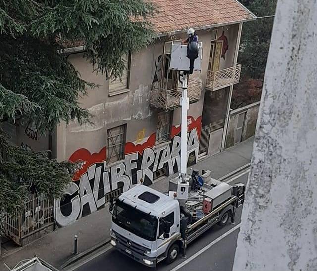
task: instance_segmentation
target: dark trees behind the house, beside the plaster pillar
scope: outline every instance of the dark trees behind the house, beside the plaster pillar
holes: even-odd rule
[[[257,17],[275,14],[277,0],[239,0]],[[243,24],[239,59],[240,84],[234,86],[231,108],[236,109],[261,99],[261,89],[270,47],[274,17]],[[260,87],[259,87],[260,86]]]

